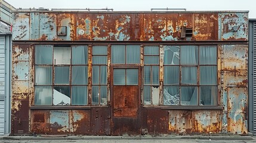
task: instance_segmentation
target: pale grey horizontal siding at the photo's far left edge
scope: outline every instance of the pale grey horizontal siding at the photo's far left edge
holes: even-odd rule
[[[0,36],[0,135],[4,135],[5,36]]]

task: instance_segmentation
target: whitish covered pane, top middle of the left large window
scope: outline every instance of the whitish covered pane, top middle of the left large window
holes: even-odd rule
[[[70,64],[70,47],[54,47],[54,64]]]

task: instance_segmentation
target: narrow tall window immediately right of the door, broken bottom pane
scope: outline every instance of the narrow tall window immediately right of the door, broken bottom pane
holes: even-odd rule
[[[153,104],[152,96],[159,96],[159,46],[144,46],[144,104]]]

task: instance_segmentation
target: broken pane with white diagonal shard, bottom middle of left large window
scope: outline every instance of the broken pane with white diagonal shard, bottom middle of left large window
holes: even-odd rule
[[[70,86],[54,86],[54,105],[70,105]]]

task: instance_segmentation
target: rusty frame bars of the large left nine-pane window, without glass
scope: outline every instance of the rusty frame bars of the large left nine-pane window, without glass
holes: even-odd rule
[[[38,48],[44,48],[45,46],[51,46],[51,51],[52,51],[52,55],[51,55],[51,64],[50,63],[47,63],[47,64],[40,64],[40,63],[36,63],[36,46],[41,46],[41,47],[38,47]],[[86,52],[86,55],[85,55],[85,58],[87,58],[87,63],[85,64],[73,64],[72,63],[72,49],[75,48],[75,47],[78,47],[78,46],[82,46],[83,48],[87,48],[87,52]],[[32,106],[39,106],[39,107],[44,107],[44,106],[47,106],[47,107],[60,107],[60,108],[69,108],[69,107],[79,107],[79,106],[88,106],[89,102],[88,102],[88,87],[89,87],[89,78],[88,78],[88,67],[89,67],[89,63],[88,63],[88,58],[89,58],[89,53],[88,53],[88,49],[89,49],[89,46],[88,45],[66,45],[66,44],[35,44],[34,46],[34,58],[35,58],[35,62],[33,63],[33,66],[35,67],[35,70],[33,71],[33,75],[34,75],[34,78],[35,78],[35,81],[36,81],[36,67],[44,67],[44,66],[50,66],[51,67],[51,84],[48,84],[48,85],[40,85],[40,84],[36,84],[36,83],[33,83],[33,87],[35,88],[35,94],[33,96],[34,98],[34,102],[32,103]],[[55,64],[55,60],[54,60],[54,48],[55,47],[68,47],[70,49],[70,62],[69,64]],[[85,67],[85,78],[87,80],[87,83],[83,83],[83,84],[73,84],[72,83],[72,67],[73,66],[84,66]],[[55,84],[55,67],[69,67],[69,83],[68,84]],[[87,72],[86,72],[86,69],[87,69]],[[42,86],[49,86],[51,87],[51,104],[36,104],[36,87],[42,87]],[[69,87],[69,94],[70,94],[70,104],[69,105],[54,105],[54,88],[57,87],[57,86],[68,86]],[[77,86],[84,86],[84,88],[86,88],[86,97],[84,98],[85,99],[85,104],[72,104],[72,90],[73,88],[72,87],[77,87]]]

